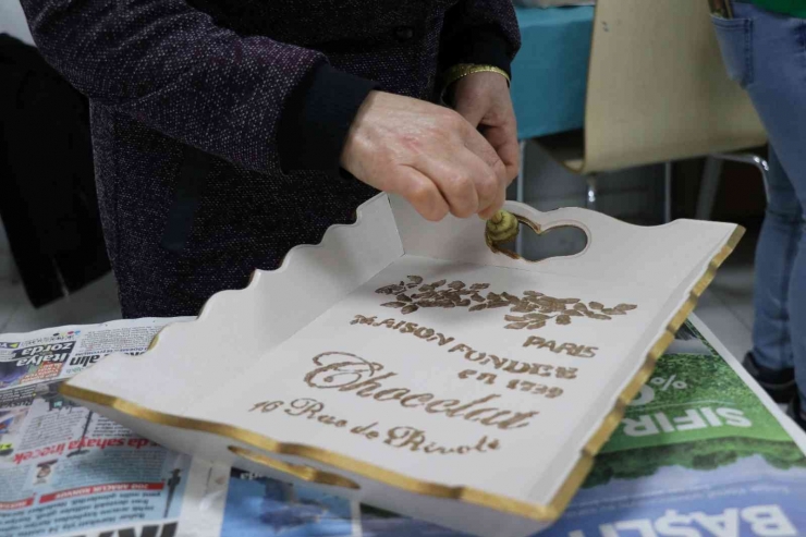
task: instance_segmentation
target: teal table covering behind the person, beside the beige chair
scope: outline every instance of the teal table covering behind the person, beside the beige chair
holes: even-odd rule
[[[523,45],[512,63],[521,139],[581,129],[594,8],[518,8]]]

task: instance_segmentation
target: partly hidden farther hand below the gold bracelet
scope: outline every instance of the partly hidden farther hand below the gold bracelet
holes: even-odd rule
[[[506,167],[509,185],[517,176],[521,150],[506,78],[498,73],[473,73],[453,83],[448,97],[454,110],[496,149]]]

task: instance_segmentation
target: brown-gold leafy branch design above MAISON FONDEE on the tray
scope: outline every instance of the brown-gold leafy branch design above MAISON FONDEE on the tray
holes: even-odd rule
[[[468,312],[480,312],[498,307],[509,307],[504,315],[504,328],[510,330],[537,330],[553,320],[557,325],[571,325],[574,318],[587,317],[596,320],[611,320],[616,315],[627,315],[637,308],[635,304],[618,304],[607,307],[604,304],[590,301],[587,304],[581,298],[554,298],[538,291],[524,291],[523,296],[503,291],[487,292],[489,283],[473,283],[455,280],[439,280],[424,283],[419,276],[410,276],[408,281],[386,285],[376,291],[378,294],[394,296],[394,302],[381,306],[400,309],[403,315],[427,307],[467,307]],[[521,315],[511,315],[521,314]]]

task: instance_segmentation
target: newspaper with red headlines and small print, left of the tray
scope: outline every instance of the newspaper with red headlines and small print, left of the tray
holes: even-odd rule
[[[60,382],[141,354],[169,320],[0,335],[0,536],[219,535],[229,468],[193,461],[71,404]]]

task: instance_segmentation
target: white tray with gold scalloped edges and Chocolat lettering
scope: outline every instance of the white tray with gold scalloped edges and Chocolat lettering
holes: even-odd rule
[[[533,263],[477,218],[431,223],[379,195],[63,393],[174,450],[475,535],[534,534],[743,230],[505,208],[587,245]]]

